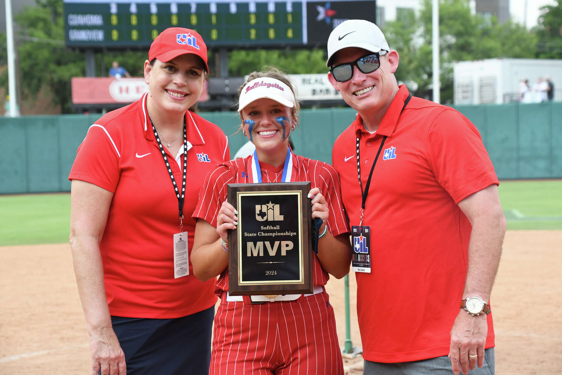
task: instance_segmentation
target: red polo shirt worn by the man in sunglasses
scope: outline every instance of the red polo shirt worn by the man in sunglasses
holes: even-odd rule
[[[457,205],[498,184],[476,127],[456,110],[396,94],[376,133],[360,116],[333,148],[350,225],[359,225],[356,137],[365,187],[384,143],[366,200],[371,273],[356,273],[357,316],[365,359],[409,362],[447,355],[463,296],[472,227]],[[486,348],[494,346],[488,315]]]

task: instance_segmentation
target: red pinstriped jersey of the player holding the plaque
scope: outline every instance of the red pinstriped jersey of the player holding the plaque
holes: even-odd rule
[[[349,233],[345,210],[341,200],[341,189],[336,170],[329,164],[311,160],[307,157],[292,155],[292,181],[310,181],[310,188],[318,187],[326,198],[330,210],[328,230],[332,236]],[[274,167],[260,161],[261,179],[263,183],[281,182],[283,164]],[[230,160],[217,166],[207,174],[205,183],[199,193],[199,202],[193,211],[193,218],[205,220],[216,228],[216,216],[224,201],[226,201],[226,184],[251,183],[249,174],[252,173],[252,155],[245,158]],[[312,281],[315,286],[325,285],[329,275],[320,266],[316,254],[313,254]],[[228,291],[228,267],[220,274],[215,286],[215,293],[221,295]]]

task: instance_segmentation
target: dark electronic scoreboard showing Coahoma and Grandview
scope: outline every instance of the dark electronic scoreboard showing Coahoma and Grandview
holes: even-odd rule
[[[162,30],[194,29],[208,47],[326,44],[347,19],[375,22],[374,0],[63,0],[66,46],[148,48]]]

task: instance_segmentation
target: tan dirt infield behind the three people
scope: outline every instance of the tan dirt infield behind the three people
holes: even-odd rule
[[[492,293],[498,375],[560,371],[561,244],[562,231],[507,232]],[[0,374],[90,374],[69,246],[0,247],[0,275]],[[343,280],[327,289],[343,346]],[[353,274],[350,295],[351,339],[360,346]]]

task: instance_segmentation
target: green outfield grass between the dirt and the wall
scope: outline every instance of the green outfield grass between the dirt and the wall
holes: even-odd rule
[[[562,229],[562,180],[502,181],[507,229]],[[67,242],[70,194],[0,196],[0,246]]]

